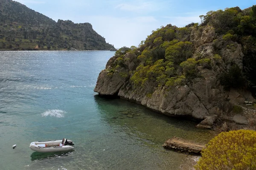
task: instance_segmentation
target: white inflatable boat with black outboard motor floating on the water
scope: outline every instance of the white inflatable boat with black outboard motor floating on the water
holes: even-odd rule
[[[71,145],[74,145],[73,141],[64,138],[55,141],[31,142],[29,147],[37,152],[59,152],[75,149]]]

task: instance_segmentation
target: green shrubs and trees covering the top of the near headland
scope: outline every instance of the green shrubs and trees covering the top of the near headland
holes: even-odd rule
[[[201,24],[191,23],[183,28],[171,24],[162,26],[142,41],[138,48],[132,47],[126,51],[116,52],[116,65],[128,68],[128,58],[125,53],[136,58],[137,65],[130,70],[131,84],[143,88],[148,94],[155,88],[171,88],[174,85],[189,83],[196,77],[201,77],[199,68],[212,69],[212,65],[223,63],[222,48],[234,51],[241,44],[243,65],[235,62],[219,75],[225,89],[250,88],[256,85],[256,6],[241,10],[239,7],[209,11],[201,15]],[[210,27],[209,27],[210,26]],[[202,57],[196,54],[196,45],[192,34],[200,37],[205,28],[215,29],[213,40],[214,56]],[[242,69],[241,69],[242,68]],[[113,69],[112,71],[117,71]],[[119,69],[120,70],[120,69]]]

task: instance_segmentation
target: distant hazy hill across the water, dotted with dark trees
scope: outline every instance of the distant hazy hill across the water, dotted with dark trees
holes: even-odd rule
[[[110,50],[113,45],[90,23],[75,24],[36,12],[25,5],[0,0],[0,50]]]

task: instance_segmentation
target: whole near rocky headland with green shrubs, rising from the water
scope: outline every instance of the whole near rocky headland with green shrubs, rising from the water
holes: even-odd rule
[[[117,51],[99,74],[94,91],[166,115],[211,117],[212,122],[217,115],[232,120],[241,113],[234,107],[244,105],[244,101],[256,102],[250,76],[255,69],[246,64],[248,59],[256,62],[252,57],[256,48],[244,43],[254,33],[237,31],[241,21],[230,26],[238,14],[247,16],[248,11],[252,9],[211,11],[201,25],[177,28],[169,24],[157,29],[138,48]],[[233,20],[221,25],[226,15]],[[253,51],[247,51],[246,45]],[[244,69],[247,67],[250,71]]]

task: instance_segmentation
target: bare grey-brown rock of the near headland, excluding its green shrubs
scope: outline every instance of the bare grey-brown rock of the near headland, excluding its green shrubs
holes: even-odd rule
[[[217,61],[214,58],[215,46],[220,48],[223,40],[216,38],[215,30],[211,26],[206,26],[201,33],[192,30],[190,41],[195,45],[193,58],[196,60],[208,58],[211,62],[210,68],[197,66],[200,76],[186,85],[152,87],[149,84],[144,87],[134,87],[131,76],[140,62],[136,55],[126,53],[125,67],[113,66],[118,61],[117,57],[112,57],[108,61],[106,69],[99,74],[94,91],[102,95],[115,94],[122,99],[137,102],[166,115],[204,119],[201,125],[211,128],[215,122],[215,118],[211,115],[217,115],[221,119],[232,111],[234,105],[244,103],[245,100],[256,102],[249,91],[237,89],[226,91],[220,84],[220,75],[227,72],[233,63],[242,67],[244,54],[240,44],[230,42],[235,48],[230,49],[224,45],[220,50],[222,58]],[[123,76],[123,73],[128,76]]]

